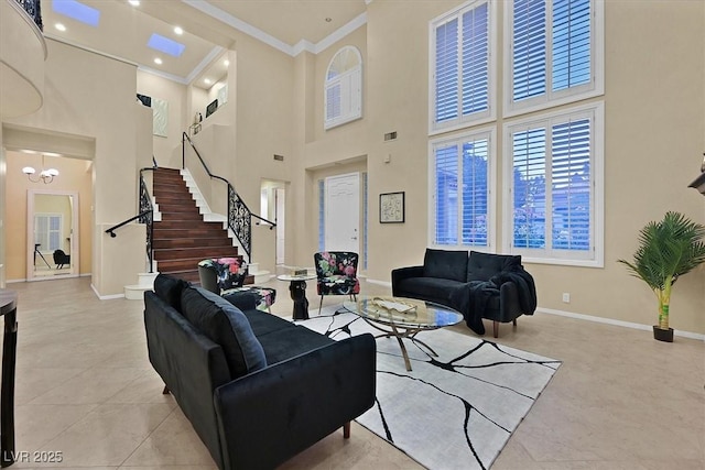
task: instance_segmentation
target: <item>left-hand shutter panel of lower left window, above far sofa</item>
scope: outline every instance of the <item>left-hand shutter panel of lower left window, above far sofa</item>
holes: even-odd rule
[[[436,244],[458,242],[458,146],[435,150],[435,240]]]

